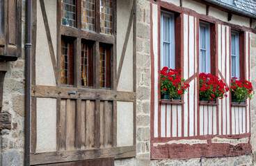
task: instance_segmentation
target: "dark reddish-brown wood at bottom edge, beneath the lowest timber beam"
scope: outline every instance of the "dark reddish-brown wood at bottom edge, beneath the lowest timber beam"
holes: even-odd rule
[[[69,163],[49,164],[46,166],[113,166],[114,162],[114,158],[101,158],[95,160],[81,160]]]

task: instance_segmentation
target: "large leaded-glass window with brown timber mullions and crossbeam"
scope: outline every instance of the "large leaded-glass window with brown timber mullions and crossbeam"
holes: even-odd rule
[[[61,84],[111,88],[113,0],[60,0],[60,6]]]

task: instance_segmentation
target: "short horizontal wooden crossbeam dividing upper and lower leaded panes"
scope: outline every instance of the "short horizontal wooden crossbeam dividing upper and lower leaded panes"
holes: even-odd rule
[[[78,30],[77,28],[72,28],[68,26],[61,26],[61,35],[76,37],[80,39],[93,40],[97,42],[102,42],[105,44],[114,44],[115,37],[111,35],[104,35],[99,33],[90,32],[88,30]]]

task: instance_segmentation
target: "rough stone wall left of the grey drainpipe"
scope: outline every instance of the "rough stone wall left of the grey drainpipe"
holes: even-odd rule
[[[8,71],[3,84],[2,112],[11,114],[12,129],[2,130],[0,165],[23,165],[24,162],[24,33],[26,0],[22,0],[22,57],[8,62]]]

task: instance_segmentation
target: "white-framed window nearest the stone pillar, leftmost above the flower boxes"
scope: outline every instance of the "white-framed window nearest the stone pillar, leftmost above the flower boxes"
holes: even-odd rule
[[[175,15],[161,12],[161,68],[175,68]]]

